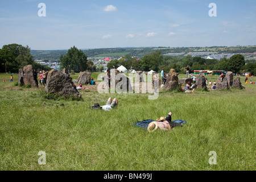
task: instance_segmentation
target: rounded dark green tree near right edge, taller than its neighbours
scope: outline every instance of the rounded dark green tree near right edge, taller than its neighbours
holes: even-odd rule
[[[234,55],[228,60],[228,71],[232,71],[233,73],[239,73],[244,65],[245,57],[240,54]]]

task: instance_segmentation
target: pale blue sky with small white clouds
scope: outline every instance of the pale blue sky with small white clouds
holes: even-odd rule
[[[209,16],[210,3],[217,16]],[[0,1],[0,47],[254,46],[255,12],[255,0]]]

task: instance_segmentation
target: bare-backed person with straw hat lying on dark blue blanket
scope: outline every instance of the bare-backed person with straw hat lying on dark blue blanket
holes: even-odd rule
[[[160,117],[160,119],[156,119],[156,121],[151,122],[147,127],[147,131],[152,132],[158,128],[164,131],[171,131],[174,127],[177,126],[182,127],[183,124],[172,122],[172,113],[170,112],[167,117]]]

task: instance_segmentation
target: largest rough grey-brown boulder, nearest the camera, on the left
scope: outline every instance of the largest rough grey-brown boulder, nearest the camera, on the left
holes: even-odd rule
[[[60,96],[81,98],[81,94],[73,85],[72,78],[56,69],[48,72],[46,81],[46,93],[59,94]]]

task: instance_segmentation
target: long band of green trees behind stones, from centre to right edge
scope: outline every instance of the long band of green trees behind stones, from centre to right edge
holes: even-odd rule
[[[156,51],[150,55],[146,55],[141,59],[126,55],[119,60],[112,60],[108,63],[109,69],[118,68],[123,65],[127,69],[135,69],[136,71],[155,71],[160,72],[162,69],[169,72],[174,68],[176,72],[185,73],[186,67],[189,66],[191,72],[195,70],[211,70],[211,71],[232,71],[233,73],[250,72],[256,75],[256,63],[245,63],[245,57],[241,54],[234,55],[230,59],[224,57],[217,59],[204,59],[200,56],[163,56],[161,51]]]

